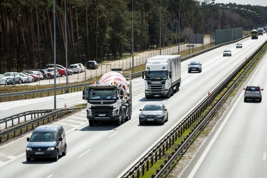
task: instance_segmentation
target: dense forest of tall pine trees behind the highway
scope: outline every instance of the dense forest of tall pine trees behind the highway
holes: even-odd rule
[[[44,68],[48,63],[53,64],[54,47],[57,64],[61,65],[65,65],[66,48],[68,64],[85,64],[88,60],[101,63],[103,60],[119,58],[123,53],[130,54],[132,22],[135,52],[159,48],[160,15],[161,46],[177,44],[179,13],[180,42],[186,41],[188,34],[193,33],[193,13],[194,33],[201,34],[203,20],[204,34],[209,34],[211,20],[213,30],[237,27],[250,30],[259,24],[265,25],[267,21],[267,7],[230,3],[215,4],[214,6],[223,7],[212,8],[207,4],[215,3],[214,1],[196,2],[55,0],[54,44],[53,0],[1,0],[0,73],[1,69]],[[225,8],[227,6],[230,8]]]

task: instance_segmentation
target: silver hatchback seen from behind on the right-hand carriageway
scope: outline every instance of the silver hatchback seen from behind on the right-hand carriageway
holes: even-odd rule
[[[260,88],[259,85],[248,85],[246,88],[243,88],[243,90],[245,90],[244,101],[247,101],[247,99],[252,99],[252,100],[259,100],[259,102],[261,102],[261,97],[262,97],[261,91],[263,89]]]

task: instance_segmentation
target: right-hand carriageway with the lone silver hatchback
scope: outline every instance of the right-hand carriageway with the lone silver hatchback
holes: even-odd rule
[[[181,177],[266,177],[267,54],[245,82]],[[247,85],[259,85],[262,102],[244,102]],[[266,90],[266,91],[265,91]]]

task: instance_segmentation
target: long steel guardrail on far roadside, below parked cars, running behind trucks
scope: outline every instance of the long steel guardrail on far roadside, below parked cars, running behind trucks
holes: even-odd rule
[[[240,38],[238,40],[235,41],[231,41],[231,42],[227,42],[227,43],[223,43],[223,44],[219,44],[216,46],[213,46],[211,48],[208,48],[206,50],[201,50],[199,52],[190,54],[190,55],[186,55],[184,57],[181,58],[181,61],[190,59],[192,57],[195,57],[197,55],[201,55],[203,53],[206,53],[208,51],[211,51],[215,48],[219,48],[221,46],[227,45],[227,44],[231,44],[231,43],[236,43],[237,41],[250,37],[250,35],[245,36],[243,38]],[[142,76],[142,72],[136,72],[133,74],[130,74],[130,77],[133,78],[138,78]],[[127,75],[126,77],[129,77],[129,75]],[[84,87],[88,87],[92,84],[92,82],[88,82],[88,83],[83,83],[83,84],[76,84],[76,85],[70,85],[70,86],[60,86],[60,87],[56,87],[56,91],[60,91],[60,94],[64,94],[64,93],[70,93],[70,92],[80,92],[83,91]],[[50,92],[52,92],[53,94],[50,94]],[[54,88],[49,88],[49,89],[42,89],[42,90],[34,90],[34,91],[26,91],[26,92],[14,92],[14,93],[3,93],[0,94],[0,102],[3,102],[3,98],[8,98],[8,101],[11,101],[11,97],[13,97],[13,100],[19,100],[19,96],[24,95],[24,99],[27,99],[27,97],[31,97],[31,98],[36,98],[34,96],[34,94],[39,94],[39,97],[48,97],[48,96],[53,96],[54,95]]]

